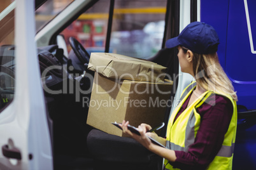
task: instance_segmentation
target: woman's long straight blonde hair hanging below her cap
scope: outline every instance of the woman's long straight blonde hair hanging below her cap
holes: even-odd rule
[[[208,55],[193,53],[193,55],[193,70],[197,86],[217,93],[225,93],[238,101],[232,82],[222,69],[217,53]]]

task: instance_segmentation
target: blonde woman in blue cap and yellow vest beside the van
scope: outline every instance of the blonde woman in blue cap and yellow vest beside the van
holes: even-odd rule
[[[146,133],[152,129],[148,124],[138,127],[140,136],[127,129],[128,121],[120,124],[124,133],[164,157],[166,169],[232,169],[238,98],[218,62],[218,44],[217,32],[202,22],[188,24],[180,36],[166,42],[167,48],[178,47],[181,71],[196,79],[171,114],[166,138]]]

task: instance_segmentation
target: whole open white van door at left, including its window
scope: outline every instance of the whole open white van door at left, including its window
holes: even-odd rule
[[[53,169],[34,35],[34,1],[0,14],[0,169]]]

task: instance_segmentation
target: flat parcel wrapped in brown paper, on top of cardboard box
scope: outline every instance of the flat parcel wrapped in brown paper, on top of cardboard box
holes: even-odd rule
[[[114,53],[91,53],[89,70],[112,79],[164,82],[166,67]]]

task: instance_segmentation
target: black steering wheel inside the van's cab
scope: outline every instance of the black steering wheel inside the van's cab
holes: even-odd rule
[[[85,48],[83,48],[83,45],[78,42],[75,37],[69,37],[69,43],[80,62],[83,64],[89,63],[90,55]]]

